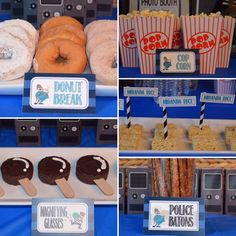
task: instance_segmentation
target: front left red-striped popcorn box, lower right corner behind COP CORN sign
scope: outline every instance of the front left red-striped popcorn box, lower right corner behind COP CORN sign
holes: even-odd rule
[[[174,16],[135,16],[141,74],[156,74],[156,49],[171,48]]]

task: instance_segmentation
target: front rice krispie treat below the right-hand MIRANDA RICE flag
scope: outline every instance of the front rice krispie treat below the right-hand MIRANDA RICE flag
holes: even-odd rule
[[[220,146],[214,137],[194,137],[192,140],[193,150],[195,151],[219,151]]]

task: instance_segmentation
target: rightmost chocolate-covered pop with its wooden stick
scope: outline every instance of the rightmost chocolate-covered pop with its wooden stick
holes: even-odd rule
[[[96,184],[105,195],[113,195],[112,187],[107,183],[108,162],[100,156],[81,157],[76,164],[76,176],[85,184]]]

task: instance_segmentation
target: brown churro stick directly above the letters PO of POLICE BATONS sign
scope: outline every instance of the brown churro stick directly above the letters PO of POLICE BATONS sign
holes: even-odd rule
[[[180,197],[179,192],[179,170],[178,170],[178,161],[176,158],[170,159],[171,166],[171,189],[172,197]]]

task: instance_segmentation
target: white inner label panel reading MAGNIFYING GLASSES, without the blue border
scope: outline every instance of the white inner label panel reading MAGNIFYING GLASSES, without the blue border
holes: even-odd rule
[[[88,206],[85,203],[43,202],[37,206],[40,233],[86,233]]]

